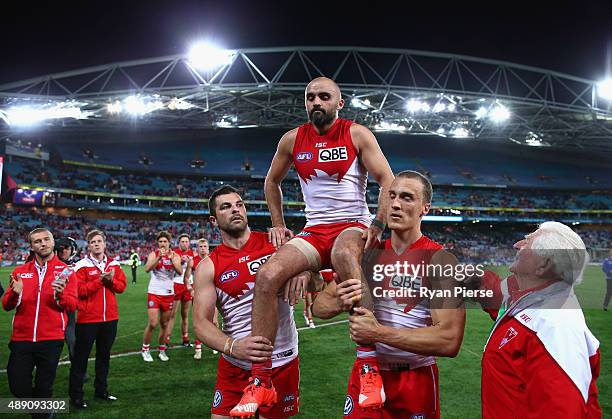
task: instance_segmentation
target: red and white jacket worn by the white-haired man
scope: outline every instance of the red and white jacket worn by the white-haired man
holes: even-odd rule
[[[555,281],[516,299],[482,357],[482,417],[601,418],[599,341],[571,286]]]

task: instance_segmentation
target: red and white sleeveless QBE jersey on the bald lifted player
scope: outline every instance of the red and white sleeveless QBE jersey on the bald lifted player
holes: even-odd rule
[[[368,172],[353,145],[351,125],[338,118],[324,135],[310,122],[298,128],[293,163],[306,203],[306,227],[353,220],[369,225]]]

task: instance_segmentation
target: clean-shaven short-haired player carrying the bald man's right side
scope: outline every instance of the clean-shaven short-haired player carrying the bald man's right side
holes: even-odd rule
[[[413,171],[401,172],[389,188],[387,223],[391,239],[381,244],[371,264],[394,266],[453,266],[456,259],[421,233],[421,221],[431,206],[432,188],[427,178]],[[367,271],[367,269],[366,269]],[[433,271],[433,270],[432,270]],[[439,418],[440,394],[436,356],[456,356],[463,339],[465,309],[461,298],[427,298],[419,292],[454,289],[452,276],[392,274],[370,277],[375,295],[381,291],[411,290],[406,297],[374,299],[374,313],[356,307],[350,316],[351,337],[356,342],[375,342],[387,400],[383,409],[367,411],[357,405],[359,370],[353,367],[344,416],[365,418]],[[317,317],[330,318],[361,298],[356,279],[331,283],[314,302]]]

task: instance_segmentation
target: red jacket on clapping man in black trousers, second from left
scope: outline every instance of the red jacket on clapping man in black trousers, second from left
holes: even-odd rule
[[[79,311],[77,323],[99,323],[119,319],[117,310],[117,299],[115,294],[121,294],[125,290],[125,274],[114,260],[106,259],[104,271],[113,270],[113,283],[104,286],[100,279],[102,271],[96,265],[93,258],[89,256],[76,263]]]

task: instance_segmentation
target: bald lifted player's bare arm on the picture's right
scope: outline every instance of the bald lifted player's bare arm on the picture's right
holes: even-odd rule
[[[361,163],[380,185],[376,211],[378,221],[375,221],[367,231],[366,248],[369,248],[373,245],[374,239],[382,233],[380,226],[387,223],[386,208],[389,199],[387,191],[395,176],[372,131],[363,125],[353,124],[351,125],[351,137],[359,152]]]

